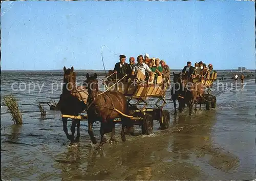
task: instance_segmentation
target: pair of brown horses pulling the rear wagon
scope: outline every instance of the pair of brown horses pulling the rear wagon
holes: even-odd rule
[[[203,101],[202,95],[204,94],[204,86],[201,82],[194,82],[187,75],[182,74],[178,78],[177,82],[181,84],[182,90],[184,90],[183,95],[179,95],[179,111],[184,110],[185,104],[189,107],[189,115],[192,115],[192,108],[195,104],[195,111],[197,110],[197,104]],[[200,104],[201,105],[201,104]]]

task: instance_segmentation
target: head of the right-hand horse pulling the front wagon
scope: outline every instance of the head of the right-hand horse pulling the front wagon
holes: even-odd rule
[[[86,82],[87,86],[88,86],[89,98],[91,100],[95,100],[97,97],[98,89],[99,89],[97,74],[94,73],[93,76],[90,76],[90,74],[87,73],[86,78],[87,78],[87,80],[84,82]]]

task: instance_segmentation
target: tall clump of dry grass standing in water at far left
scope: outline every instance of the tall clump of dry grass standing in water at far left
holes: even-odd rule
[[[18,109],[17,100],[12,96],[4,97],[4,105],[8,107],[15,124],[23,124],[22,113]]]

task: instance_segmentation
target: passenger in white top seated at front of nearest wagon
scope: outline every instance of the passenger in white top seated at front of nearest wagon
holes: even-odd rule
[[[147,72],[150,76],[150,81],[152,81],[153,72],[151,71],[150,67],[148,67],[147,64],[143,63],[143,56],[139,55],[137,57],[137,61],[138,63],[136,63],[133,67],[132,75],[134,75],[135,79],[137,79],[138,81],[140,80],[144,81],[146,79],[146,72]]]

